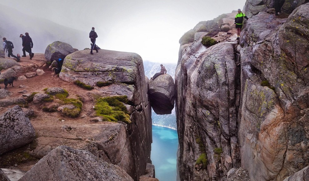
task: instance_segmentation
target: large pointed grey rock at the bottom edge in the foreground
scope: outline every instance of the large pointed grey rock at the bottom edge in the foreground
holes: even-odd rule
[[[120,167],[89,151],[59,146],[43,157],[19,181],[41,180],[133,180]]]

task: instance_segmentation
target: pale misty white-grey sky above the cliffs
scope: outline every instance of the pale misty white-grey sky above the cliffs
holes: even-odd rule
[[[135,52],[143,60],[153,62],[177,63],[178,41],[186,31],[192,29],[199,21],[212,20],[223,13],[243,9],[246,0],[1,0],[0,2],[20,12],[85,31],[87,37],[91,27],[94,26],[99,36],[96,43],[102,49]],[[35,38],[35,35],[32,34],[31,37]]]

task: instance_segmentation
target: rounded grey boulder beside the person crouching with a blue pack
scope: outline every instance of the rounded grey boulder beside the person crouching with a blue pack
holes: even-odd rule
[[[60,59],[64,59],[66,55],[69,55],[76,50],[67,43],[61,41],[54,41],[53,43],[47,45],[45,50],[45,58],[49,61],[54,61]]]

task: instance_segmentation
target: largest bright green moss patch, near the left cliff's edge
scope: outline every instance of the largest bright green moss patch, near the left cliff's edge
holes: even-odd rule
[[[131,123],[130,115],[123,104],[128,102],[127,96],[98,98],[95,105],[96,115],[103,117],[105,121]]]

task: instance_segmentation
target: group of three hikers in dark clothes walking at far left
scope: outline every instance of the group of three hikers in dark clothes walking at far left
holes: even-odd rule
[[[19,37],[22,38],[22,57],[26,57],[26,51],[29,53],[30,56],[30,60],[32,60],[32,57],[34,56],[34,53],[32,53],[32,48],[33,48],[33,42],[31,37],[29,36],[29,33],[25,33],[26,36],[24,36],[23,34],[20,34]],[[17,62],[19,62],[20,60],[20,56],[19,54],[17,54],[17,56],[13,55],[13,48],[14,45],[12,43],[12,41],[8,41],[5,37],[2,38],[3,40],[3,51],[5,52],[5,49],[7,50],[6,52],[8,52],[7,56],[8,57],[14,57],[17,59]]]

